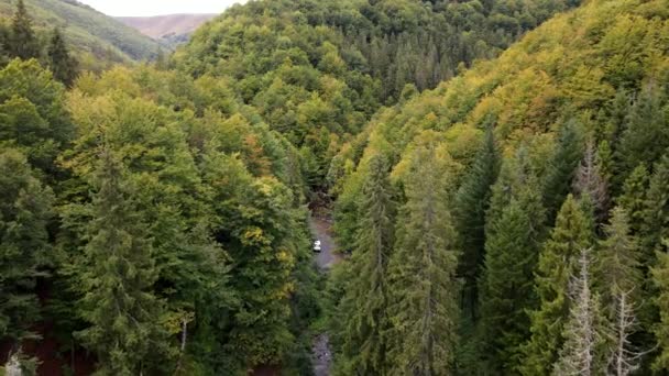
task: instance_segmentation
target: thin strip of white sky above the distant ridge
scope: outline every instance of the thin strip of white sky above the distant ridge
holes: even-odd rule
[[[78,0],[109,15],[220,13],[245,0]]]

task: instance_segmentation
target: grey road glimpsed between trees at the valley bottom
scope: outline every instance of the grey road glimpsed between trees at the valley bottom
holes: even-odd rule
[[[342,257],[337,252],[337,244],[332,240],[332,223],[327,218],[314,215],[309,221],[311,235],[320,241],[320,252],[314,253],[314,262],[320,273],[327,273]],[[316,376],[329,376],[332,364],[332,352],[330,351],[330,338],[328,333],[321,333],[314,339],[311,347],[311,362]]]

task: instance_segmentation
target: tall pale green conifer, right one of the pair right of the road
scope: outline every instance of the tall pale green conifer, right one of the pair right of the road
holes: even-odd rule
[[[388,267],[391,375],[452,372],[459,322],[458,252],[448,208],[452,178],[450,158],[435,147],[414,152]]]

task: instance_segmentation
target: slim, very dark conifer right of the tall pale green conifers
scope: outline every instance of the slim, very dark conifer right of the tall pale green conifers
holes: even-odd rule
[[[493,128],[489,128],[474,164],[456,193],[454,219],[462,256],[458,275],[464,277],[464,314],[476,317],[478,280],[485,254],[485,211],[490,207],[491,188],[500,174],[500,155]]]

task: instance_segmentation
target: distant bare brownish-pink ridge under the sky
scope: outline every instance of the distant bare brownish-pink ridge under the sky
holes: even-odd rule
[[[174,45],[186,42],[188,36],[200,25],[217,14],[167,14],[155,16],[118,16],[128,26],[162,43]]]

